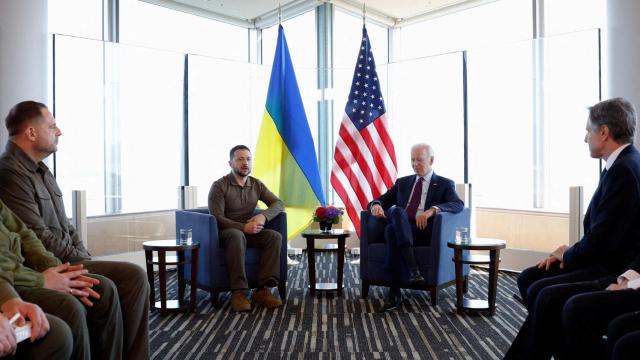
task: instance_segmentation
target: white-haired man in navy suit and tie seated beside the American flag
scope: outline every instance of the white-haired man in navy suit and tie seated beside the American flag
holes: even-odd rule
[[[415,175],[398,179],[389,191],[367,206],[373,216],[387,221],[387,266],[394,274],[394,282],[399,282],[400,259],[409,269],[409,283],[419,285],[425,282],[418,270],[413,244],[428,245],[431,242],[433,229],[430,219],[434,215],[458,213],[464,207],[453,181],[436,175],[432,165],[433,148],[427,144],[414,145],[411,148],[411,166]],[[401,303],[400,288],[392,286],[382,311],[396,309]]]

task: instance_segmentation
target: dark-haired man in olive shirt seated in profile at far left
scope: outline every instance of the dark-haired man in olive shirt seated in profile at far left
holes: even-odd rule
[[[62,132],[44,104],[23,101],[5,119],[9,132],[0,156],[0,199],[44,247],[63,262],[81,264],[114,286],[121,327],[116,338],[122,351],[94,350],[100,356],[149,358],[149,283],[144,270],[128,262],[96,261],[82,244],[66,216],[62,192],[43,160],[57,151]],[[96,344],[96,347],[98,345]]]

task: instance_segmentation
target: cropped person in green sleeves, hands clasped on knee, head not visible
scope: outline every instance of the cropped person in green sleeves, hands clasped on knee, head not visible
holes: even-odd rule
[[[2,201],[0,219],[2,312],[19,312],[29,319],[35,339],[44,335],[46,321],[28,303],[36,304],[69,326],[73,359],[120,356],[122,319],[118,316],[120,303],[113,283],[103,276],[88,276],[82,265],[60,264]]]

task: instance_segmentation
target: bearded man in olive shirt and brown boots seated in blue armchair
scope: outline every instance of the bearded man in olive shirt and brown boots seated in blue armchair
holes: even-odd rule
[[[244,267],[247,247],[260,248],[258,289],[253,302],[266,308],[282,305],[267,287],[278,285],[280,277],[280,245],[282,235],[264,229],[264,224],[284,211],[284,204],[251,173],[251,151],[244,145],[234,146],[229,153],[231,173],[216,180],[209,191],[209,212],[216,217],[220,238],[224,244],[231,283],[231,307],[235,311],[249,311],[246,297],[249,288]],[[253,215],[258,200],[268,208]]]

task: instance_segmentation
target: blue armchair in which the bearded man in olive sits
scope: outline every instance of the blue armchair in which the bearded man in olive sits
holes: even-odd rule
[[[256,213],[260,210],[256,210]],[[191,228],[193,240],[200,242],[200,256],[198,259],[198,287],[211,292],[211,304],[220,305],[220,292],[229,291],[229,273],[224,251],[220,251],[220,237],[218,236],[218,222],[215,216],[209,214],[206,208],[176,210],[176,238],[180,229]],[[281,213],[265,224],[266,229],[272,229],[282,234],[282,248],[280,249],[280,283],[278,292],[284,301],[287,293],[287,216]],[[191,256],[190,252],[186,257]],[[260,265],[260,250],[248,248],[246,252],[245,268],[249,286],[257,286],[258,268]],[[185,266],[185,279],[190,279],[191,265]]]

